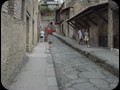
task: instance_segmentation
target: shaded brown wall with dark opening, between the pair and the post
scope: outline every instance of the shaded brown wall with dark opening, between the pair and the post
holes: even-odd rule
[[[102,15],[106,20],[108,20],[107,10],[101,12],[99,15]],[[94,14],[91,15],[91,17]],[[107,36],[108,36],[108,23],[100,18],[98,15],[92,20],[97,24],[97,26],[89,21],[89,32],[90,32],[90,45],[94,47],[107,47]],[[97,22],[99,21],[99,22]]]

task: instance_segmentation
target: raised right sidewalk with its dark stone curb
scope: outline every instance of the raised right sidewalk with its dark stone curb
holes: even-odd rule
[[[56,33],[54,33],[54,36],[119,77],[119,55],[115,52],[99,47],[88,48],[84,45],[78,45],[77,41]]]

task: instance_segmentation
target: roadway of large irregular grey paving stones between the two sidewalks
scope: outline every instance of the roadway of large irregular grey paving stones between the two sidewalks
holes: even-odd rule
[[[119,78],[54,36],[49,36],[60,90],[112,90]]]

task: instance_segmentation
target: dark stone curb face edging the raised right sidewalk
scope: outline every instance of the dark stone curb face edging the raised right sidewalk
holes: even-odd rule
[[[96,64],[102,66],[103,68],[105,68],[106,70],[108,70],[112,74],[114,74],[115,76],[119,77],[119,68],[113,66],[111,63],[107,62],[106,60],[103,60],[102,58],[100,58],[98,56],[93,55],[92,53],[90,53],[88,51],[84,51],[80,48],[75,47],[72,43],[70,43],[69,41],[62,38],[62,36],[59,36],[59,35],[56,35],[56,34],[53,34],[53,35],[55,37],[57,37],[58,39],[60,39],[61,41],[63,41],[65,44],[69,45],[70,47],[72,47],[73,49],[75,49],[76,51],[81,53],[82,55],[85,55],[86,57],[90,58]]]

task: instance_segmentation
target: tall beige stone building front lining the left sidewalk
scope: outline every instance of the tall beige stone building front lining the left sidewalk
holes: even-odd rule
[[[7,88],[38,42],[38,1],[8,0],[1,9],[1,82]]]

